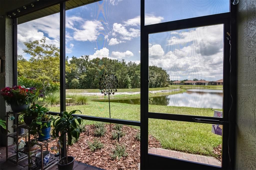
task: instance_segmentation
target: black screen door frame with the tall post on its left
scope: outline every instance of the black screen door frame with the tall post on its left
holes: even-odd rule
[[[164,23],[157,23],[152,25],[145,24],[145,1],[141,0],[141,169],[233,169],[230,150],[234,148],[234,131],[231,129],[233,124],[234,114],[230,115],[230,110],[235,110],[232,105],[232,97],[235,94],[230,91],[232,83],[236,83],[231,77],[235,72],[231,72],[231,66],[235,66],[234,60],[236,56],[230,57],[230,36],[227,34],[230,30],[230,16],[231,12],[215,14],[209,16],[195,17],[189,19],[182,19]],[[206,116],[192,116],[192,115],[178,115],[165,113],[148,112],[148,34],[166,32],[187,28],[202,27],[207,25],[223,24],[223,118],[206,117]],[[232,96],[231,96],[232,95]],[[222,167],[212,166],[202,163],[190,162],[169,158],[165,156],[149,154],[148,153],[148,119],[164,119],[174,121],[186,121],[197,123],[212,123],[222,124]],[[231,142],[232,139],[232,142]]]

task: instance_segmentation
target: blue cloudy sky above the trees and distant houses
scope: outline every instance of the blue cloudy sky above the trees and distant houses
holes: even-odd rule
[[[229,0],[147,0],[145,25],[229,12]],[[47,38],[59,47],[59,13],[18,25],[24,42]],[[140,0],[103,0],[66,11],[66,56],[108,57],[140,63]],[[171,80],[222,79],[223,25],[149,35],[149,65]]]

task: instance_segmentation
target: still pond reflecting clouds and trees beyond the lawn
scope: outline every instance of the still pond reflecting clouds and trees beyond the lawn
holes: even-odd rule
[[[152,97],[153,101],[151,104],[222,109],[222,92],[222,90],[211,89],[188,89],[184,93]],[[108,102],[108,100],[104,100],[104,102]],[[110,102],[140,104],[140,99],[110,100]]]

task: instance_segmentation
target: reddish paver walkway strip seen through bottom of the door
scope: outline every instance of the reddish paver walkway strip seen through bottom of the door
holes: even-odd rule
[[[167,156],[170,158],[182,159],[186,161],[204,163],[204,164],[209,164],[214,166],[221,166],[220,161],[210,156],[194,155],[190,153],[172,151],[172,150],[167,150],[162,148],[150,148],[148,149],[148,153]]]

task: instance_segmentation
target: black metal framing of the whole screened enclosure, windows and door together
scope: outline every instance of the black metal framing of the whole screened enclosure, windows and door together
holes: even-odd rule
[[[63,1],[45,1],[47,3],[43,3],[44,1],[40,1],[41,5],[37,7],[36,10],[40,10],[49,6],[53,6],[56,4],[60,4],[60,111],[66,110],[66,88],[65,88],[65,3],[67,0]],[[230,0],[232,1],[232,0]],[[51,3],[49,5],[49,2]],[[97,2],[97,1],[95,1]],[[27,10],[26,14],[34,12],[35,9],[31,9],[30,11]],[[7,13],[8,14],[8,13]],[[23,14],[25,15],[25,14]],[[16,17],[12,17],[13,20],[13,85],[17,85],[17,17],[21,15],[17,15]],[[163,32],[163,31],[170,31],[173,29],[186,29],[186,28],[193,28],[193,27],[200,27],[200,26],[206,26],[206,25],[214,25],[218,23],[225,22],[225,25],[227,26],[224,30],[224,41],[230,41],[233,46],[236,46],[236,37],[232,37],[230,40],[230,37],[227,36],[226,31],[229,33],[233,33],[233,35],[236,35],[236,6],[232,5],[230,6],[230,12],[222,13],[222,14],[215,14],[215,15],[209,15],[209,16],[202,16],[202,17],[196,17],[196,18],[189,18],[189,19],[182,19],[182,20],[176,20],[176,21],[170,21],[170,22],[164,22],[164,23],[158,23],[153,25],[144,25],[145,23],[145,1],[141,0],[141,87],[148,87],[148,44],[145,44],[145,40],[148,41],[148,34],[149,33],[155,33],[157,32]],[[217,17],[217,18],[216,18]],[[229,40],[227,40],[229,38]],[[226,45],[226,47],[225,47]],[[230,57],[230,67],[223,68],[223,74],[224,74],[224,81],[222,84],[225,84],[223,86],[224,90],[224,96],[226,98],[223,99],[223,111],[229,110],[229,112],[236,113],[236,107],[234,106],[236,103],[236,70],[233,69],[230,71],[230,68],[236,68],[237,61],[236,61],[236,50],[228,48],[228,43],[225,43],[224,45],[224,53],[226,53],[225,56],[228,56],[228,54],[232,57]],[[227,58],[227,57],[226,57]],[[227,60],[225,61],[227,62]],[[225,64],[226,65],[226,64]],[[231,96],[232,95],[232,96]],[[141,99],[148,99],[148,88],[141,88]],[[59,112],[49,112],[51,115],[57,115]],[[161,169],[168,169],[169,167],[165,164],[166,161],[169,161],[170,165],[176,165],[173,166],[174,169],[179,169],[179,166],[182,165],[183,169],[184,167],[189,167],[189,169],[211,169],[206,165],[198,166],[197,163],[191,164],[190,162],[177,160],[177,159],[170,159],[166,158],[164,156],[155,156],[152,154],[148,154],[147,151],[147,142],[148,142],[148,119],[165,119],[165,120],[178,120],[178,121],[187,121],[187,122],[195,122],[194,118],[198,119],[208,119],[209,117],[204,116],[187,116],[187,115],[172,115],[172,114],[165,114],[165,113],[151,113],[148,112],[148,101],[147,100],[141,100],[141,115],[140,115],[140,121],[130,121],[130,120],[121,120],[121,119],[112,119],[112,118],[105,118],[105,117],[96,117],[96,116],[87,116],[87,115],[77,115],[80,116],[84,120],[92,120],[92,121],[100,121],[100,122],[106,122],[106,123],[118,123],[118,124],[124,124],[124,125],[132,125],[132,126],[138,126],[141,130],[141,169],[154,169],[154,168],[161,168]],[[234,168],[234,137],[235,137],[235,119],[236,114],[230,114],[228,116],[224,116],[223,119],[220,118],[212,118],[216,122],[219,122],[220,124],[225,124],[228,126],[228,131],[224,131],[223,135],[229,136],[227,141],[224,141],[223,144],[227,144],[228,147],[225,148],[225,154],[222,156],[223,162],[225,165],[222,165],[222,168],[217,169],[233,169]],[[64,149],[66,150],[66,149]],[[65,153],[66,155],[66,153]],[[157,162],[155,166],[148,167],[147,164],[149,162]],[[159,166],[161,165],[162,166]],[[195,166],[194,166],[195,165]],[[212,166],[212,169],[216,169],[216,167]]]

